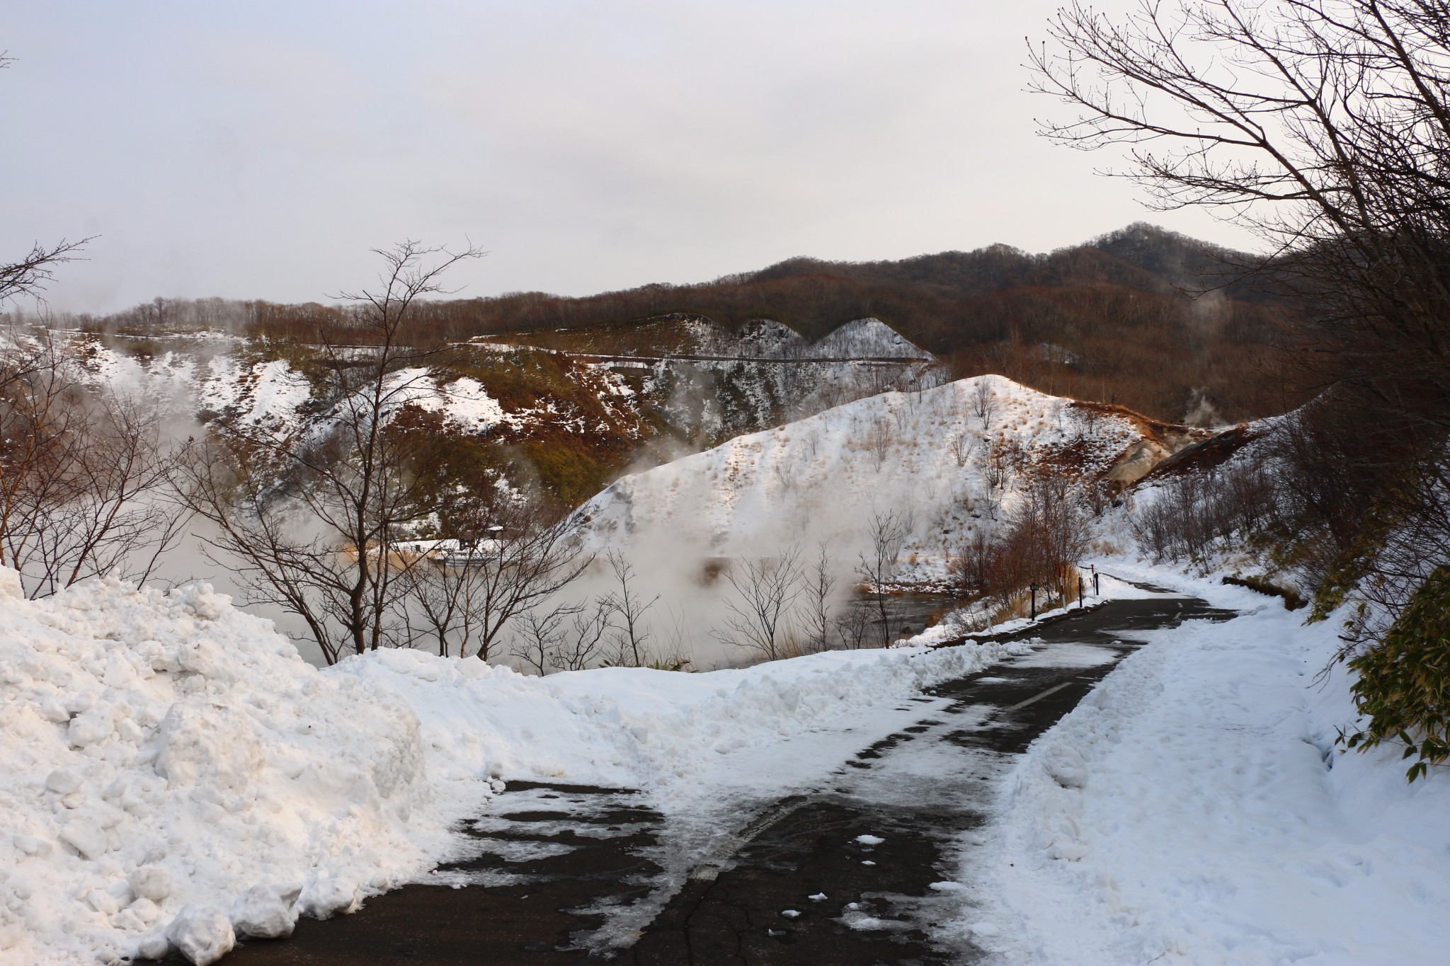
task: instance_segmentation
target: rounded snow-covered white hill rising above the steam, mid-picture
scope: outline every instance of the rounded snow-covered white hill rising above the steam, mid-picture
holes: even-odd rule
[[[996,526],[1027,468],[1051,463],[1092,478],[1144,440],[1125,416],[985,375],[740,436],[619,479],[579,518],[596,546],[667,540],[700,556],[737,556],[851,543],[874,513],[895,511],[909,524],[903,559],[915,555],[929,576],[944,552]],[[1005,485],[992,485],[995,463],[1006,466]]]

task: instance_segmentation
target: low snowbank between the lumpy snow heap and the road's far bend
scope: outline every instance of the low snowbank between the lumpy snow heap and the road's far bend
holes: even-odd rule
[[[718,797],[710,779],[732,753],[841,727],[1022,647],[837,650],[706,673],[597,668],[548,678],[471,658],[386,650],[334,673],[413,707],[435,782],[489,775],[622,785],[651,792],[668,814]]]

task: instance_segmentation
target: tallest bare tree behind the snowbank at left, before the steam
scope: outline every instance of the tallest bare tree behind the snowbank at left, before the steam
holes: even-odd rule
[[[180,492],[216,524],[209,543],[229,558],[252,602],[297,614],[328,662],[397,643],[403,524],[438,498],[423,472],[435,458],[426,434],[400,432],[393,416],[426,378],[429,353],[410,343],[418,300],[447,291],[441,278],[481,251],[402,242],[378,249],[378,284],[344,294],[355,304],[351,345],[319,329],[313,346],[323,429],[278,437],[218,426],[193,448]]]

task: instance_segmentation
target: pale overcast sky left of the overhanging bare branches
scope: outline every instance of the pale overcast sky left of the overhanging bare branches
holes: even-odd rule
[[[1109,3],[1112,6],[1112,3]],[[325,300],[403,238],[464,294],[689,282],[792,255],[1047,251],[1147,213],[1035,135],[1053,3],[9,4],[0,262],[100,235],[58,308]]]

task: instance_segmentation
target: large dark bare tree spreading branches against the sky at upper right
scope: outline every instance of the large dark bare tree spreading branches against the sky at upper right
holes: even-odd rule
[[[1301,297],[1286,349],[1325,392],[1280,433],[1288,556],[1325,605],[1357,587],[1389,620],[1450,547],[1447,23],[1444,0],[1170,0],[1116,19],[1073,3],[1031,52],[1038,90],[1074,114],[1051,138],[1127,145],[1156,207],[1264,239],[1267,256],[1224,253],[1202,287]],[[1147,540],[1180,552],[1182,514],[1153,513]],[[1395,553],[1386,532],[1418,546]]]

